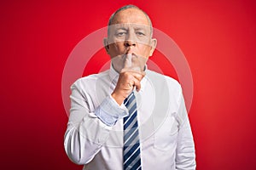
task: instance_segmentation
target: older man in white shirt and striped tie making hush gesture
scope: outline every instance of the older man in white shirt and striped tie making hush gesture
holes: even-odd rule
[[[84,169],[195,169],[180,85],[148,71],[156,47],[148,15],[128,5],[108,23],[108,71],[72,85],[65,150]]]

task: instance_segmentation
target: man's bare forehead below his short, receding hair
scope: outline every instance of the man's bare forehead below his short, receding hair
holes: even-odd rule
[[[148,18],[143,11],[137,8],[127,8],[115,14],[112,25],[134,23],[149,26]]]

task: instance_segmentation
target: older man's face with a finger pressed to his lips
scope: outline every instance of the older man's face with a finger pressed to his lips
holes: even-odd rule
[[[143,71],[156,46],[147,17],[137,8],[127,8],[115,15],[104,43],[118,72],[123,68]]]

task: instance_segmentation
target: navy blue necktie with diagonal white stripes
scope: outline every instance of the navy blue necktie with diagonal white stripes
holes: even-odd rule
[[[141,167],[140,143],[137,126],[137,104],[133,92],[125,99],[124,104],[129,116],[124,118],[124,170],[139,170]]]

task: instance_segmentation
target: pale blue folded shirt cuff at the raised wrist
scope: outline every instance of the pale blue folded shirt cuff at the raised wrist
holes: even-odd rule
[[[129,115],[129,111],[125,105],[118,105],[111,95],[105,98],[94,112],[102,122],[111,127],[113,127],[119,119]]]

